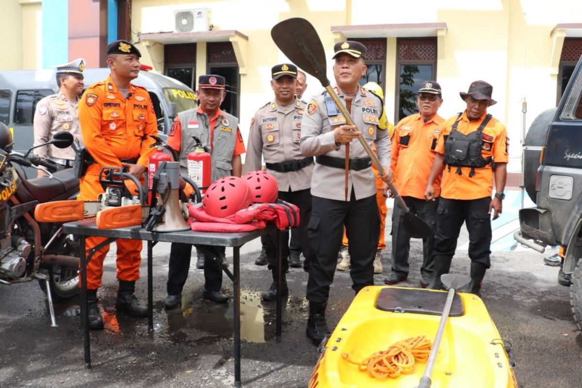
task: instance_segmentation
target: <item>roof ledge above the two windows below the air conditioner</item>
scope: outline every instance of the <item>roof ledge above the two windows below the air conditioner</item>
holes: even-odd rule
[[[246,74],[246,63],[249,37],[236,30],[212,30],[196,31],[192,33],[148,33],[141,34],[140,40],[145,45],[151,42],[161,44],[184,44],[196,42],[231,42],[235,50],[236,62],[239,65],[239,73]]]

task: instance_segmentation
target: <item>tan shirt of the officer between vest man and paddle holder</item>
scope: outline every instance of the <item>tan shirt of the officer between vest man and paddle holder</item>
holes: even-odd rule
[[[261,169],[261,155],[265,163],[300,161],[299,139],[301,119],[306,104],[295,98],[289,105],[268,102],[251,119],[247,155],[243,173]],[[279,183],[279,191],[306,190],[311,186],[313,164],[296,171],[279,172],[267,168]]]

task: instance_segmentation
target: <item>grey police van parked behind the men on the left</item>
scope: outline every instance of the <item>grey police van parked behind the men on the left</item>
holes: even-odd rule
[[[85,69],[85,88],[104,81],[109,69]],[[158,118],[158,133],[166,138],[172,127],[171,116],[196,108],[197,99],[190,87],[171,77],[141,71],[132,84],[147,89]],[[15,151],[26,151],[34,143],[33,119],[38,101],[59,91],[55,70],[0,71],[0,122],[12,132]]]

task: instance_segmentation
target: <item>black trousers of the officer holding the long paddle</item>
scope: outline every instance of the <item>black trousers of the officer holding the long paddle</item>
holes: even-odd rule
[[[311,265],[307,280],[307,299],[326,302],[333,283],[338,251],[346,227],[352,257],[352,289],[360,291],[374,284],[374,257],[380,233],[376,195],[356,201],[352,191],[349,201],[313,197],[313,213],[308,225]]]

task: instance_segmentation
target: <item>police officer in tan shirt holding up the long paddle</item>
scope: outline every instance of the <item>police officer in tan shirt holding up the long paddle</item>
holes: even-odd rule
[[[306,330],[314,344],[329,334],[325,308],[344,226],[350,241],[352,289],[357,293],[374,284],[372,264],[380,218],[372,162],[357,140],[359,136],[363,136],[370,148],[376,144],[378,159],[384,166],[381,178],[386,183],[392,181],[390,137],[388,131],[378,130],[382,100],[358,84],[367,69],[366,48],[360,42],[344,41],[338,42],[333,51],[333,75],[337,83],[333,89],[351,111],[356,126],[346,124],[327,91],[311,99],[301,122],[301,153],[315,156],[311,178],[313,212],[307,236],[313,253],[307,281]]]

